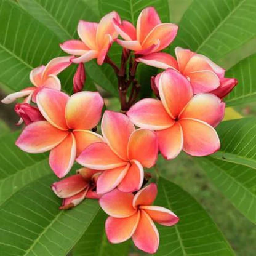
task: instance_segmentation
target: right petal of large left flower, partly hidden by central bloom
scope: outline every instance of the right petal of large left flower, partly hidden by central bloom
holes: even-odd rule
[[[96,132],[90,130],[73,130],[74,137],[76,138],[76,156],[95,142],[104,142],[103,137]]]

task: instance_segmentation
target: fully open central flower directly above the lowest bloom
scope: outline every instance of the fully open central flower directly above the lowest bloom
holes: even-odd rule
[[[133,192],[141,188],[143,167],[152,167],[158,156],[155,132],[135,130],[125,114],[105,111],[102,118],[103,141],[88,146],[76,161],[90,169],[105,170],[98,178],[97,193],[114,188]]]

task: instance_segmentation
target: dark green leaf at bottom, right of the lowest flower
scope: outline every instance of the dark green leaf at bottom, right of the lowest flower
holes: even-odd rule
[[[173,227],[159,226],[156,255],[234,255],[202,206],[182,188],[161,177],[156,205],[171,209],[180,218]]]

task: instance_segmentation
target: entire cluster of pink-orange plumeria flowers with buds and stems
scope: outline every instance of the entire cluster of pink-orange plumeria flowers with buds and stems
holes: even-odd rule
[[[156,164],[159,152],[174,159],[182,150],[191,156],[217,151],[220,140],[214,128],[223,119],[223,97],[237,84],[203,55],[180,47],[175,49],[176,59],[161,52],[175,39],[177,30],[175,24],[161,23],[153,7],[142,10],[136,28],[116,12],[99,23],[81,20],[81,40],[60,44],[71,55],[34,68],[30,73],[34,87],[2,100],[11,103],[25,97],[15,106],[18,124],[25,123],[16,142],[21,150],[50,151],[49,165],[58,178],[70,172],[74,161],[83,166],[77,174],[52,184],[54,193],[63,199],[60,209],[77,206],[85,198],[99,199],[110,215],[105,225],[108,240],[119,243],[132,238],[135,246],[148,253],[159,246],[154,222],[172,226],[179,219],[164,207],[151,206],[157,186],[144,186],[151,177],[145,169]],[[120,68],[108,55],[113,42],[123,47]],[[122,113],[106,110],[102,117],[102,96],[82,91],[84,63],[92,59],[98,65],[111,65],[117,74]],[[156,97],[137,102],[138,63],[164,71],[151,79]],[[60,90],[57,75],[75,64],[78,69],[70,96]],[[102,135],[96,132],[101,117]]]

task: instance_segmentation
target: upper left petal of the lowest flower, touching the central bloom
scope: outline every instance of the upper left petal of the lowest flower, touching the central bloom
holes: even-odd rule
[[[115,189],[103,194],[98,202],[102,210],[111,217],[126,218],[137,212],[137,209],[132,206],[133,199],[134,194]]]

